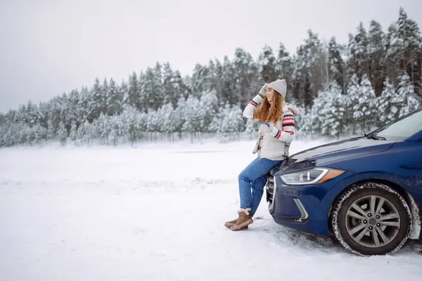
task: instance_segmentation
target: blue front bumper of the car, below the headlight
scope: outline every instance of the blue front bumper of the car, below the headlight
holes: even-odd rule
[[[328,214],[337,196],[331,191],[347,176],[350,172],[326,183],[285,185],[279,173],[271,175],[266,185],[269,213],[282,226],[328,236]]]

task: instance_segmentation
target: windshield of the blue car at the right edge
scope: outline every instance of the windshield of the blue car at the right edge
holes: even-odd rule
[[[403,119],[394,122],[373,133],[375,137],[391,141],[404,141],[422,130],[422,110],[411,113]]]

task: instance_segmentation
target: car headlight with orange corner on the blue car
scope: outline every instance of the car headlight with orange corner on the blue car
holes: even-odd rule
[[[314,168],[306,171],[285,174],[281,181],[286,185],[309,185],[313,183],[324,183],[337,178],[345,171],[331,168]]]

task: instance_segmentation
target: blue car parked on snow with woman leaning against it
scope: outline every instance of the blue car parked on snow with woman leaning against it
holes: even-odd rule
[[[291,155],[270,171],[266,190],[276,223],[354,254],[392,254],[421,238],[422,110]]]

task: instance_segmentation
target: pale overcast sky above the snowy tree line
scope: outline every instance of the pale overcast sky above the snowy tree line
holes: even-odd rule
[[[0,112],[156,61],[191,74],[236,47],[254,59],[264,44],[293,53],[309,28],[345,43],[360,21],[386,30],[399,6],[422,26],[421,0],[0,0]]]

